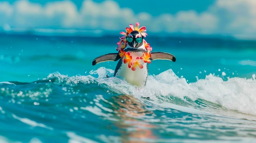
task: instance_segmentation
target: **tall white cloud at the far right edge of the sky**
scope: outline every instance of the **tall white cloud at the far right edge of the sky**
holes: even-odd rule
[[[219,33],[256,37],[255,0],[218,0],[212,11],[220,21]]]

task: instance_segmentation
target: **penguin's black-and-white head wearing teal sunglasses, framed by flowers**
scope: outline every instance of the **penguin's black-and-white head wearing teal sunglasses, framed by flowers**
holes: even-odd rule
[[[133,48],[139,48],[143,45],[143,36],[139,31],[132,31],[127,37],[126,40],[129,46]]]

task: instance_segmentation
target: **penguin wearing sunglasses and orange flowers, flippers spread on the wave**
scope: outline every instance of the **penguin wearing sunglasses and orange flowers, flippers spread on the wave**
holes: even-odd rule
[[[144,40],[146,28],[138,29],[138,22],[118,42],[119,53],[110,53],[96,57],[92,65],[107,61],[118,61],[115,68],[115,77],[120,77],[135,86],[146,86],[148,79],[148,64],[151,60],[166,59],[175,62],[176,58],[170,53],[150,52],[152,47]],[[137,28],[137,29],[136,29]]]

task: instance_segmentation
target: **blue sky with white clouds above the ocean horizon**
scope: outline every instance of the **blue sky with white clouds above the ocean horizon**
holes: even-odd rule
[[[256,40],[256,0],[0,0],[0,31],[148,33]]]

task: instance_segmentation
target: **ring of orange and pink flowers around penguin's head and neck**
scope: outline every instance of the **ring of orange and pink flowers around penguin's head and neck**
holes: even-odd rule
[[[146,40],[143,39],[145,48],[147,50],[147,52],[144,52],[143,55],[141,57],[136,57],[134,62],[132,61],[132,56],[130,55],[130,52],[125,52],[124,49],[127,46],[127,40],[126,37],[132,32],[132,31],[139,31],[141,33],[142,36],[146,37],[146,35],[148,35],[146,33],[146,27],[142,26],[139,28],[139,22],[137,22],[135,24],[135,26],[133,26],[132,24],[129,25],[129,28],[126,27],[126,32],[120,32],[120,34],[124,35],[122,37],[120,37],[120,41],[117,42],[117,51],[119,51],[119,56],[121,57],[122,61],[124,62],[124,64],[128,63],[128,67],[132,68],[133,71],[136,70],[137,66],[139,68],[143,68],[143,65],[139,62],[140,60],[143,60],[144,63],[151,63],[150,57],[151,57],[151,51],[152,51],[152,47],[150,47],[150,44],[146,42]]]

